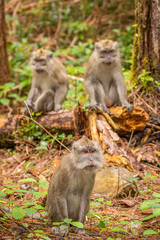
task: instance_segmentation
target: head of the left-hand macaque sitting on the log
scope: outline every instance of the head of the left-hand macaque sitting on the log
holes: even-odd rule
[[[36,73],[47,72],[50,62],[52,61],[52,53],[48,50],[44,50],[41,48],[32,53],[31,67]]]

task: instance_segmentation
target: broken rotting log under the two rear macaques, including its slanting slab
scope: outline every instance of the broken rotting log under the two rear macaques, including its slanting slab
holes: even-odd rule
[[[121,107],[110,108],[108,116],[102,111],[83,110],[79,104],[74,110],[45,113],[36,121],[52,133],[72,133],[76,137],[86,134],[102,146],[107,165],[120,165],[133,170],[136,160],[119,135],[143,130],[148,118],[148,114],[140,107],[135,107],[132,112],[122,110]],[[24,120],[25,117],[15,116],[0,126],[0,146],[4,146],[4,142],[14,140],[13,132],[21,126],[21,121],[25,124]]]

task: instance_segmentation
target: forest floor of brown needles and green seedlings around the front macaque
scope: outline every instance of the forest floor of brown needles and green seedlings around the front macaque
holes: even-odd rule
[[[137,98],[138,99],[138,98]],[[138,101],[138,100],[137,100]],[[138,186],[138,196],[107,199],[102,194],[92,194],[90,212],[87,216],[85,229],[88,236],[70,233],[67,237],[55,236],[46,218],[17,218],[0,211],[0,240],[3,239],[107,239],[107,240],[138,240],[160,239],[160,141],[159,117],[154,109],[143,102],[135,105],[143,107],[150,115],[148,126],[144,131],[135,133],[130,142],[137,159],[137,170],[133,177]],[[156,121],[156,123],[154,122]],[[141,135],[142,134],[142,135]],[[135,137],[135,138],[134,138]],[[139,139],[138,139],[139,138]],[[135,146],[136,141],[136,146]],[[68,146],[71,146],[69,140]],[[50,180],[53,170],[57,167],[67,150],[55,148],[38,149],[33,141],[21,142],[12,149],[0,149],[0,205],[9,204],[26,208],[26,206],[44,206],[47,188],[45,183]],[[25,181],[25,179],[29,179]],[[24,181],[23,181],[24,180]],[[32,181],[34,180],[34,181]],[[5,201],[3,194],[6,194]],[[155,199],[155,205],[148,209],[140,209],[146,200]],[[41,209],[41,208],[40,208]],[[158,209],[158,217],[142,221]],[[146,230],[150,230],[146,232]],[[144,234],[146,233],[146,234]]]

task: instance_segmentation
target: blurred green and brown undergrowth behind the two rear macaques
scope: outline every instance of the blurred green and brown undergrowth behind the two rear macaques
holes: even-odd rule
[[[6,0],[9,83],[0,86],[4,111],[22,107],[32,80],[29,58],[40,47],[53,51],[68,74],[83,77],[85,64],[97,40],[119,43],[125,81],[130,85],[134,0]],[[64,108],[88,103],[83,81],[70,79]]]

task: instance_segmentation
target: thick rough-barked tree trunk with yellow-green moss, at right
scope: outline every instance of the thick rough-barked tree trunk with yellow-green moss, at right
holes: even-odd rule
[[[136,33],[133,47],[133,75],[144,69],[160,80],[160,1],[135,0]]]

